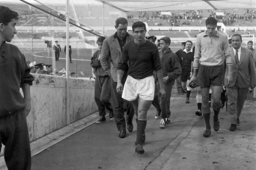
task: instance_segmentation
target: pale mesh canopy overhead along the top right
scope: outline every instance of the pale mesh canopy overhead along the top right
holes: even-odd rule
[[[97,0],[124,12],[255,9],[252,0]]]

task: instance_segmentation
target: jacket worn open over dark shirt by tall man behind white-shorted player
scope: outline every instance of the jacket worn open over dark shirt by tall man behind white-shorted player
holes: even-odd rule
[[[110,35],[103,41],[100,64],[108,75],[111,75],[113,80],[117,82],[117,66],[122,58],[122,51],[118,39],[114,38],[114,35]],[[134,36],[127,33],[126,42],[131,40],[134,40]]]

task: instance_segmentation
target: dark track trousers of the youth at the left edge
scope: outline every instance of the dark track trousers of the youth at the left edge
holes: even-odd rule
[[[0,118],[0,151],[9,170],[30,170],[31,151],[26,112],[17,111]]]

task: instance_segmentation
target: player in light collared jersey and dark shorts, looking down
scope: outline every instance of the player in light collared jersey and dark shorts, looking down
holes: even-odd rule
[[[205,21],[205,24],[207,30],[203,33],[199,33],[196,38],[193,63],[194,71],[190,82],[195,82],[201,87],[202,112],[206,124],[206,130],[203,135],[204,137],[209,137],[211,134],[209,89],[210,86],[212,86],[212,108],[214,111],[213,129],[214,131],[218,131],[220,128],[218,114],[221,107],[220,94],[223,87],[222,83],[224,80],[225,85],[228,86],[232,81],[232,56],[226,35],[216,30],[217,20],[213,17],[209,17]],[[211,48],[209,48],[210,46]],[[225,77],[223,77],[224,58],[226,59],[227,68]]]

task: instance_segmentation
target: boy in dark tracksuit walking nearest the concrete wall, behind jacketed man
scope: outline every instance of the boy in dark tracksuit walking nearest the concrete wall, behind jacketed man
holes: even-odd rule
[[[110,103],[111,100],[111,78],[104,71],[102,66],[100,65],[100,58],[101,58],[101,48],[104,39],[103,36],[100,36],[97,39],[97,44],[99,50],[94,52],[91,58],[91,66],[93,68],[93,73],[95,74],[95,88],[94,88],[94,99],[98,106],[100,118],[96,121],[96,124],[101,124],[106,121],[105,115],[105,108],[109,111],[109,118],[110,121],[114,120],[113,109]]]

